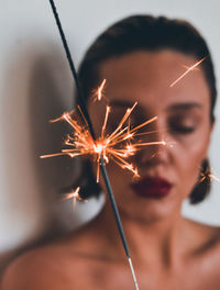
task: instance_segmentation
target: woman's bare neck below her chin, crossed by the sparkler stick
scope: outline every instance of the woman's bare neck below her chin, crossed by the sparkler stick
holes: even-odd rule
[[[130,254],[135,264],[176,267],[184,253],[186,221],[179,212],[157,221],[136,221],[121,213]],[[124,257],[117,223],[109,204],[95,220],[99,236],[107,241],[108,252],[114,257]],[[98,224],[97,224],[98,223]]]

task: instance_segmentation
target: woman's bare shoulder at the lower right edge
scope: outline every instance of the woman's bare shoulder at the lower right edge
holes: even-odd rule
[[[220,289],[220,226],[186,219],[184,241],[188,279],[196,275],[200,289]]]

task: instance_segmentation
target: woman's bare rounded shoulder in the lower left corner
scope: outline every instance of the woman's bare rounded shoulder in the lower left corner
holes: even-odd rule
[[[67,244],[68,247],[68,244]],[[77,258],[65,249],[65,243],[56,242],[26,252],[7,268],[1,290],[74,290],[74,272]],[[69,274],[72,269],[72,275]]]

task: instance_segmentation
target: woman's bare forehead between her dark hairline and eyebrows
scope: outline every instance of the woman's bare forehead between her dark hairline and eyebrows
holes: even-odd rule
[[[197,66],[186,74],[198,59],[174,52],[135,52],[106,60],[100,77],[107,79],[106,94],[121,102],[154,102],[170,104],[209,102],[209,88],[202,69]]]

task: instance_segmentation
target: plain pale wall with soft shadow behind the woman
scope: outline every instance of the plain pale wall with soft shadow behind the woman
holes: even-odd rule
[[[218,0],[59,0],[57,10],[78,66],[94,38],[114,21],[138,13],[183,18],[207,40],[220,79]],[[50,231],[74,228],[96,214],[103,200],[77,205],[57,199],[69,185],[68,158],[41,160],[58,152],[64,124],[48,120],[73,107],[73,80],[47,0],[0,0],[0,254],[11,253]],[[219,102],[210,159],[220,172]],[[198,141],[199,142],[199,141]],[[183,214],[220,225],[220,183],[202,204],[184,204]]]

